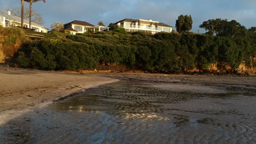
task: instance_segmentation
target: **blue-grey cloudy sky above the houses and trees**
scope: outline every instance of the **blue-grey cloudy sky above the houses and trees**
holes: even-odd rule
[[[20,0],[0,0],[0,11],[20,7]],[[29,7],[28,3],[25,7]],[[179,15],[191,15],[192,32],[205,32],[199,28],[210,19],[236,20],[246,28],[256,27],[256,0],[46,0],[37,2],[33,9],[41,14],[44,26],[53,22],[74,20],[108,26],[123,19],[152,19],[175,27]]]

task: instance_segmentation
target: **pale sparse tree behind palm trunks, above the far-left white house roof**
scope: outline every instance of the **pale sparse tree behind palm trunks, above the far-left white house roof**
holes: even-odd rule
[[[10,7],[12,15],[15,16],[21,16],[21,8],[15,8],[15,7]],[[38,14],[36,10],[32,10],[32,22],[36,22],[39,25],[44,24],[44,20],[42,15]],[[24,8],[24,19],[29,20],[30,19],[30,9],[29,8]]]

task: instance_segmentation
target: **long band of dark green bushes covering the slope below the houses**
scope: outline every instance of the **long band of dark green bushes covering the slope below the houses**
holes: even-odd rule
[[[66,39],[49,38],[27,41],[16,55],[24,68],[73,70],[97,65],[123,64],[131,68],[168,73],[176,70],[231,70],[245,62],[255,67],[255,33],[250,37],[216,37],[202,34],[113,31],[67,35]]]

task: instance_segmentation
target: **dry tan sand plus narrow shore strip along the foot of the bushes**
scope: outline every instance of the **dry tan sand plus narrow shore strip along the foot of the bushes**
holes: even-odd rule
[[[25,112],[32,112],[37,107],[45,107],[73,95],[80,94],[90,88],[104,85],[119,80],[141,80],[141,77],[147,81],[183,83],[183,81],[192,80],[194,77],[199,83],[205,83],[203,80],[207,77],[210,83],[219,83],[233,85],[232,82],[223,81],[229,76],[211,76],[211,75],[176,75],[176,74],[147,74],[147,73],[78,73],[76,71],[43,71],[20,68],[0,68],[0,125],[5,124],[10,119],[21,116]],[[212,79],[219,77],[218,79]],[[225,78],[226,77],[226,78]],[[236,76],[235,76],[236,77]],[[234,77],[234,78],[235,78]],[[238,76],[237,82],[241,84],[244,78]],[[254,76],[246,79],[254,79]],[[193,78],[193,79],[194,79]],[[202,79],[202,80],[201,80]],[[242,80],[242,81],[241,81]],[[227,83],[226,83],[227,82]],[[43,84],[42,84],[43,83]],[[222,83],[222,84],[223,84]],[[243,84],[246,84],[242,82]],[[220,83],[219,83],[220,84]],[[9,91],[8,91],[9,90]],[[33,111],[36,112],[36,111]]]

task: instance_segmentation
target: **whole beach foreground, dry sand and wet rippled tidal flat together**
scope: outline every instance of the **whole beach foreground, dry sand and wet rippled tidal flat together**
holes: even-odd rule
[[[1,69],[0,84],[2,143],[256,142],[255,77]]]

